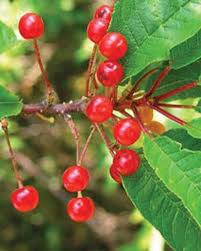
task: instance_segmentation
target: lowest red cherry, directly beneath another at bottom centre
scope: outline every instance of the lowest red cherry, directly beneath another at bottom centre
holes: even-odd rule
[[[71,199],[67,204],[67,213],[73,221],[89,221],[95,211],[94,202],[88,197]]]

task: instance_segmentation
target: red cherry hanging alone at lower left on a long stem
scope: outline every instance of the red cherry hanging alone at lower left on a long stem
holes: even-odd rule
[[[12,192],[11,202],[13,207],[19,212],[32,211],[39,203],[38,191],[32,186],[18,188]]]

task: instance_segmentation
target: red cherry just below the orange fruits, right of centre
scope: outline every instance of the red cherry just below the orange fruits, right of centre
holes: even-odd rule
[[[123,146],[134,144],[140,135],[141,128],[135,119],[121,119],[114,126],[114,138]]]

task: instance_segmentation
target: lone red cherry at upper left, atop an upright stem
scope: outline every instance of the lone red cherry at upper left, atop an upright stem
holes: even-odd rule
[[[35,13],[26,13],[20,18],[18,28],[25,39],[39,38],[44,32],[43,19]]]

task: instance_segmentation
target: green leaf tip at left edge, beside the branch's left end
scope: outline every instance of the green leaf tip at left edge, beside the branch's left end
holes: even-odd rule
[[[0,119],[17,115],[22,110],[22,102],[17,96],[0,86]]]

